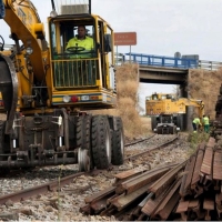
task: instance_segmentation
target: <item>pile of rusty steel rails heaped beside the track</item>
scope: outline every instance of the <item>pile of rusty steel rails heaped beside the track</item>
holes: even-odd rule
[[[222,149],[214,138],[183,163],[133,169],[90,195],[81,212],[120,221],[222,220]]]

